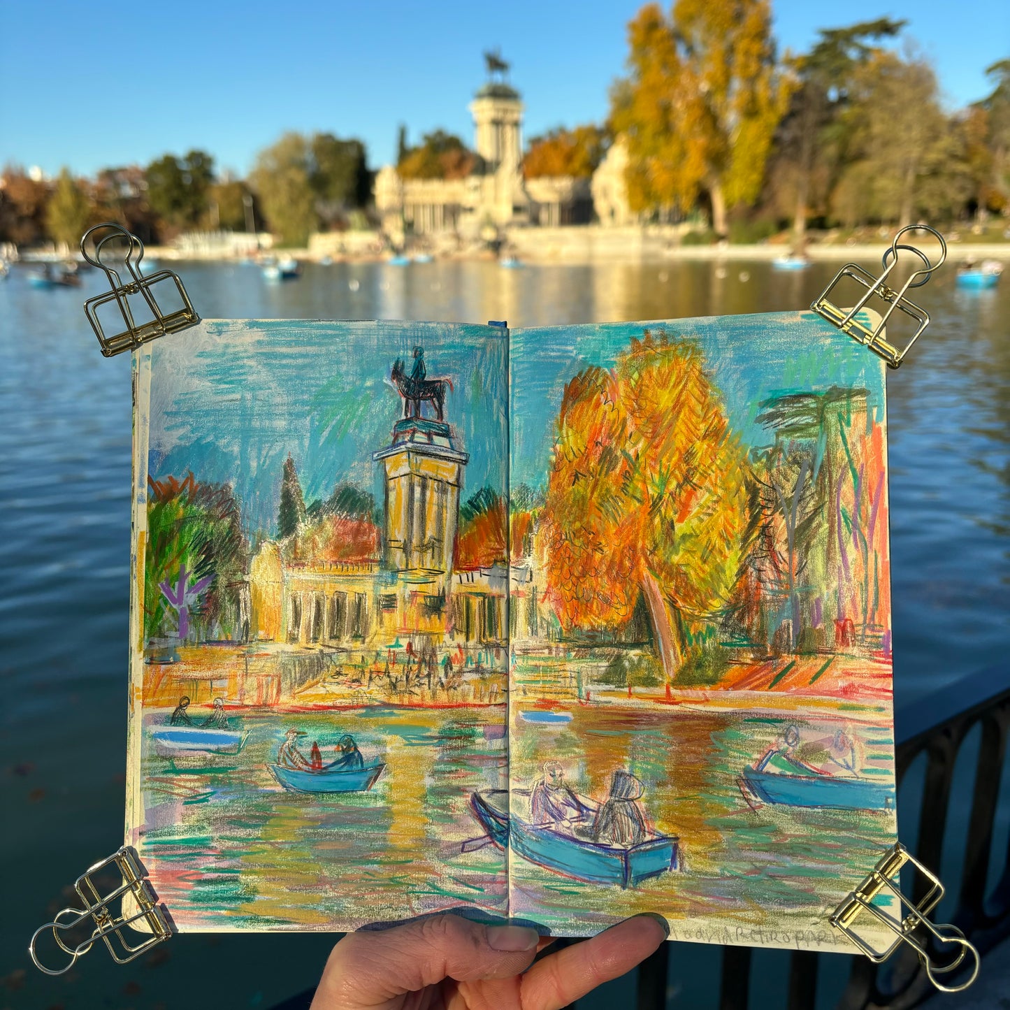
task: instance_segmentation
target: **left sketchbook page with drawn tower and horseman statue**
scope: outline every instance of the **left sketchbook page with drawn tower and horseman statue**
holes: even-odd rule
[[[446,324],[138,352],[126,839],[180,929],[506,910],[465,844],[507,782],[506,370]]]

